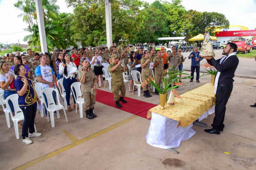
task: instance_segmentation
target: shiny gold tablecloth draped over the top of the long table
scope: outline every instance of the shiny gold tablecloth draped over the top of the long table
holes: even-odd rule
[[[207,83],[194,90],[188,91],[180,95],[184,103],[180,99],[175,98],[175,104],[165,105],[165,110],[160,109],[160,105],[151,108],[148,111],[147,118],[151,117],[151,112],[168,117],[178,121],[178,126],[187,127],[197,120],[201,115],[215,105],[214,86]]]

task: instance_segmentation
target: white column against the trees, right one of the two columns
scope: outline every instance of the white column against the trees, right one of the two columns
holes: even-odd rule
[[[111,0],[105,0],[107,47],[112,44]]]

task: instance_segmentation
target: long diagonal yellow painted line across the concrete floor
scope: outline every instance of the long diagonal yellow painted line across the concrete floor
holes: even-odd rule
[[[117,124],[114,124],[114,125],[112,125],[112,126],[109,126],[108,128],[103,129],[103,130],[101,130],[101,131],[98,131],[98,132],[96,132],[96,133],[94,133],[94,134],[92,134],[92,135],[90,135],[90,136],[87,136],[87,137],[85,137],[85,138],[83,138],[83,139],[77,140],[76,142],[74,142],[74,143],[72,143],[72,144],[69,144],[69,145],[67,145],[67,146],[64,146],[64,147],[62,147],[62,148],[56,150],[56,151],[53,151],[53,152],[51,152],[51,153],[48,153],[48,154],[46,154],[46,155],[44,155],[44,156],[42,156],[42,157],[40,157],[40,158],[37,158],[37,159],[35,159],[35,160],[32,160],[32,161],[30,161],[30,162],[28,162],[28,163],[26,163],[26,164],[24,164],[24,165],[22,165],[22,166],[19,166],[19,167],[15,168],[15,169],[20,170],[20,169],[25,169],[25,168],[34,166],[34,165],[38,164],[39,162],[42,162],[42,161],[44,161],[44,160],[46,160],[46,159],[49,159],[49,158],[52,158],[52,157],[58,155],[59,153],[65,152],[65,151],[67,151],[67,150],[69,150],[69,149],[71,149],[71,148],[73,148],[73,147],[75,147],[75,146],[77,146],[77,145],[80,145],[80,144],[82,144],[82,143],[84,143],[84,142],[86,142],[86,141],[88,141],[88,140],[91,140],[91,139],[93,139],[93,138],[96,138],[96,137],[98,137],[98,136],[104,134],[104,133],[107,133],[108,131],[111,131],[111,130],[115,129],[115,128],[117,128],[117,127],[119,127],[119,126],[121,126],[121,125],[123,125],[123,124],[125,124],[125,123],[127,123],[127,122],[129,122],[129,121],[131,121],[131,120],[133,120],[133,119],[136,118],[136,117],[138,117],[138,116],[134,115],[134,116],[132,116],[132,117],[129,117],[129,118],[127,118],[127,119],[125,119],[125,120],[123,120],[123,121],[117,123]]]

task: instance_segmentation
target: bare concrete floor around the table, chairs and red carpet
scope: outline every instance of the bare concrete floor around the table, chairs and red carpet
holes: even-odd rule
[[[209,82],[210,76],[200,77],[200,83],[185,80],[179,93]],[[55,118],[55,127],[45,117],[36,115],[40,137],[25,145],[15,138],[13,123],[7,127],[0,109],[0,169],[256,169],[256,108],[255,79],[235,77],[231,98],[227,104],[225,129],[220,135],[204,132],[194,125],[196,134],[181,142],[179,154],[148,145],[146,134],[150,121],[96,102],[97,118],[80,118],[75,110]],[[108,88],[101,90],[110,91]],[[159,97],[132,95],[126,84],[126,96],[159,104]],[[114,101],[113,101],[114,102]],[[127,103],[129,104],[129,103]],[[134,106],[136,107],[136,106]],[[214,114],[202,122],[212,123]],[[65,132],[65,133],[64,133]],[[21,137],[21,130],[20,130]],[[225,155],[229,152],[230,155]]]

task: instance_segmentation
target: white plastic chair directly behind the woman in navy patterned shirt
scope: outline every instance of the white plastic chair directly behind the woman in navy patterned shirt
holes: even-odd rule
[[[14,124],[14,130],[15,130],[15,135],[16,135],[17,139],[20,138],[18,122],[21,120],[24,120],[23,112],[20,109],[20,106],[18,104],[18,98],[19,98],[18,94],[13,94],[13,95],[6,97],[6,106],[9,108],[9,110],[11,110],[11,108],[10,108],[8,101],[11,100],[12,104],[13,104],[15,116],[12,116],[12,114],[11,114],[11,117],[12,117],[12,121]],[[36,131],[35,124],[34,124],[34,127],[35,127],[35,131]]]

